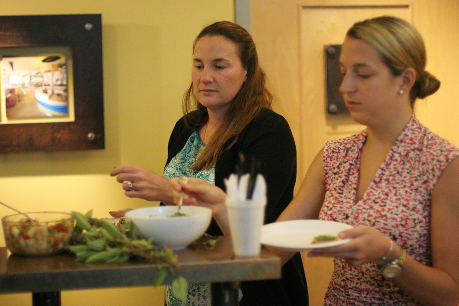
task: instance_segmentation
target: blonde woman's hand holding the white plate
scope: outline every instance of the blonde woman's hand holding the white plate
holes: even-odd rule
[[[381,234],[377,229],[369,226],[358,226],[356,228],[347,229],[338,234],[340,239],[351,239],[351,241],[337,246],[314,249],[309,252],[308,256],[324,256],[336,257],[344,259],[351,266],[358,266],[368,262],[376,262],[382,264],[383,256],[393,260],[398,255],[396,247],[391,248],[391,240]]]

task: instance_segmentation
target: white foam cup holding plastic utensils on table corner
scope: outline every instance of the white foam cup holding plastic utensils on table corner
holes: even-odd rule
[[[235,256],[260,255],[266,197],[245,201],[226,197],[225,204]]]

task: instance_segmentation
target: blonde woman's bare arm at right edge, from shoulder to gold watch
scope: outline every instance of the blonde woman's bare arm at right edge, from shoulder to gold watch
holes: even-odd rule
[[[431,197],[433,267],[409,257],[395,280],[404,292],[424,305],[459,304],[459,159],[451,161],[437,180]]]

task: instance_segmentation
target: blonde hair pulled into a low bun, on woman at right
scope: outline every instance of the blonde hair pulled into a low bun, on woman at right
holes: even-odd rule
[[[440,81],[425,71],[424,40],[414,26],[404,19],[381,16],[356,22],[346,36],[361,39],[375,48],[394,76],[406,68],[416,71],[416,81],[409,92],[411,107],[417,98],[435,93]]]

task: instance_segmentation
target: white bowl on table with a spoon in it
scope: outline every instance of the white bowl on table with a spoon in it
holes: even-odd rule
[[[126,219],[132,220],[137,235],[150,239],[156,245],[167,245],[172,250],[185,248],[200,238],[209,227],[212,211],[200,206],[182,206],[188,216],[171,217],[178,206],[154,206],[128,211]]]

